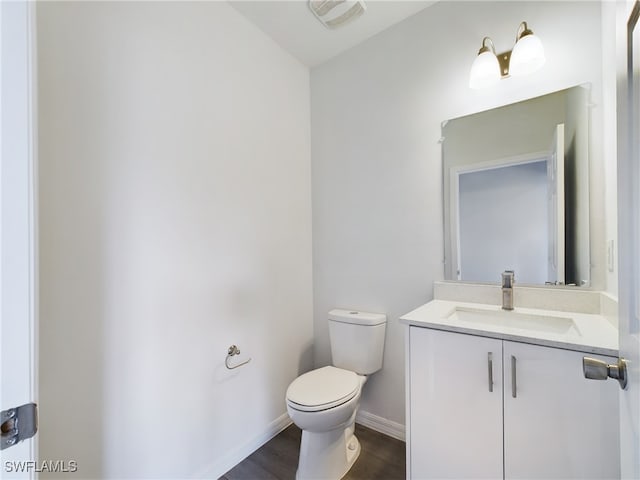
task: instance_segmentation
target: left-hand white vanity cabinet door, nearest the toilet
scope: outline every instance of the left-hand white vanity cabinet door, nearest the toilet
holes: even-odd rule
[[[502,478],[502,341],[410,327],[409,348],[411,477]]]

